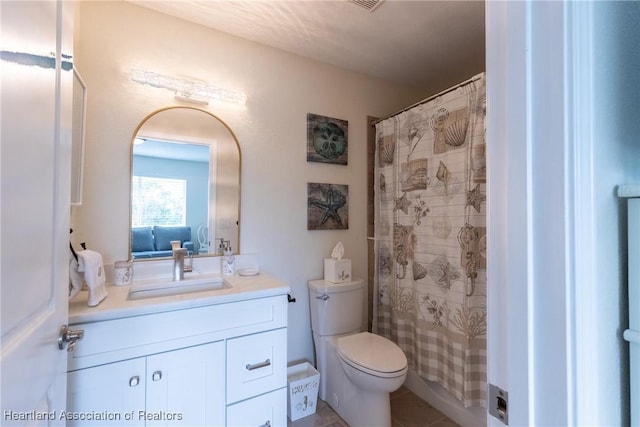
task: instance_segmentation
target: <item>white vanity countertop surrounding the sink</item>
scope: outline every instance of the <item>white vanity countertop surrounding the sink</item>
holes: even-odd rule
[[[231,287],[139,300],[127,298],[131,286],[107,285],[107,297],[96,307],[87,305],[88,292],[69,301],[69,324],[97,322],[185,308],[224,304],[254,298],[285,295],[289,286],[267,273],[257,276],[225,276]]]

